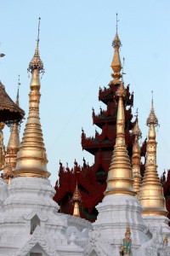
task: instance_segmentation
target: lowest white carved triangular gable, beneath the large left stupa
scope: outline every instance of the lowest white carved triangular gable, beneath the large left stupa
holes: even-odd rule
[[[26,244],[21,247],[17,253],[10,254],[10,256],[26,256],[27,253],[31,252],[31,249],[36,245],[42,247],[42,250],[48,254],[48,256],[59,256],[55,248],[52,247],[49,241],[45,238],[41,228],[37,226],[34,233],[31,235],[31,238],[26,241]]]

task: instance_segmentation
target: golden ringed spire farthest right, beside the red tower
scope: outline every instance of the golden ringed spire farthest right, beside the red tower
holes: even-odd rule
[[[151,102],[150,115],[146,121],[149,126],[148,141],[147,141],[147,154],[144,179],[140,189],[139,201],[144,212],[142,215],[167,215],[165,206],[165,199],[160,178],[157,173],[156,165],[156,130],[155,126],[158,125],[158,119],[153,106],[153,98]]]

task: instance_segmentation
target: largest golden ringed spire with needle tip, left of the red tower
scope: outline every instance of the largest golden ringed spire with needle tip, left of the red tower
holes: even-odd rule
[[[17,154],[14,176],[17,177],[44,177],[48,178],[47,155],[42,138],[42,128],[39,117],[40,79],[39,73],[43,73],[43,63],[39,56],[39,28],[38,24],[37,47],[31,59],[28,71],[32,74],[29,94],[29,114],[26,128],[20,143],[20,151]]]

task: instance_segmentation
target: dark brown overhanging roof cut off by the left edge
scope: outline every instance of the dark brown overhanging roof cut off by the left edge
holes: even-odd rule
[[[25,112],[19,108],[5,91],[4,85],[0,82],[0,121],[7,125],[20,123],[24,118]]]

